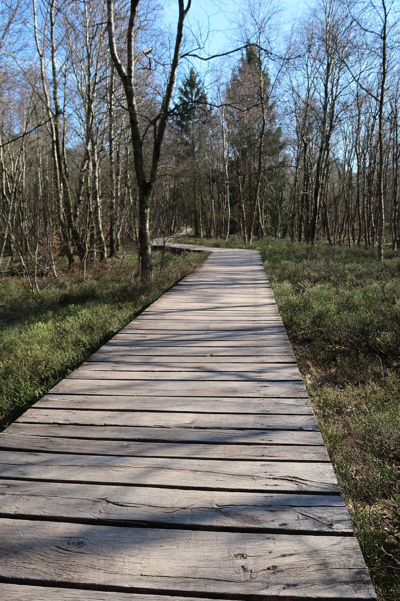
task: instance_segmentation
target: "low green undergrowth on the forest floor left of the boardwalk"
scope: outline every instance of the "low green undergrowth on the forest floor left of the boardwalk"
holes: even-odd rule
[[[0,430],[206,256],[154,253],[154,277],[142,282],[129,253],[88,267],[85,279],[78,268],[41,279],[35,297],[18,276],[0,278]]]

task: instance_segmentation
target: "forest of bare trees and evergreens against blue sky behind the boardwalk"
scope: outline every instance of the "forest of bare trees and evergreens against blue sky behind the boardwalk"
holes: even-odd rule
[[[399,250],[399,5],[316,0],[289,29],[252,0],[213,57],[171,6],[2,1],[2,271],[34,289],[129,246],[148,276],[185,225]]]

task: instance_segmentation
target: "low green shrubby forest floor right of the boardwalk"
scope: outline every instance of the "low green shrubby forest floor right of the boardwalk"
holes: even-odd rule
[[[265,238],[276,302],[371,571],[378,599],[400,599],[400,258]]]

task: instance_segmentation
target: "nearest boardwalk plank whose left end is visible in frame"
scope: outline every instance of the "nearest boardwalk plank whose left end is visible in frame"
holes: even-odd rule
[[[64,426],[14,423],[7,432],[29,436],[97,438],[111,441],[205,442],[207,444],[323,445],[320,432],[312,430],[217,430],[196,428],[134,428],[130,426]]]

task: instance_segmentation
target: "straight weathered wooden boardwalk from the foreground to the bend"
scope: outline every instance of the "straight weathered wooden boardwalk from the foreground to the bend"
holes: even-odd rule
[[[0,454],[1,599],[375,599],[256,251],[212,252]]]

